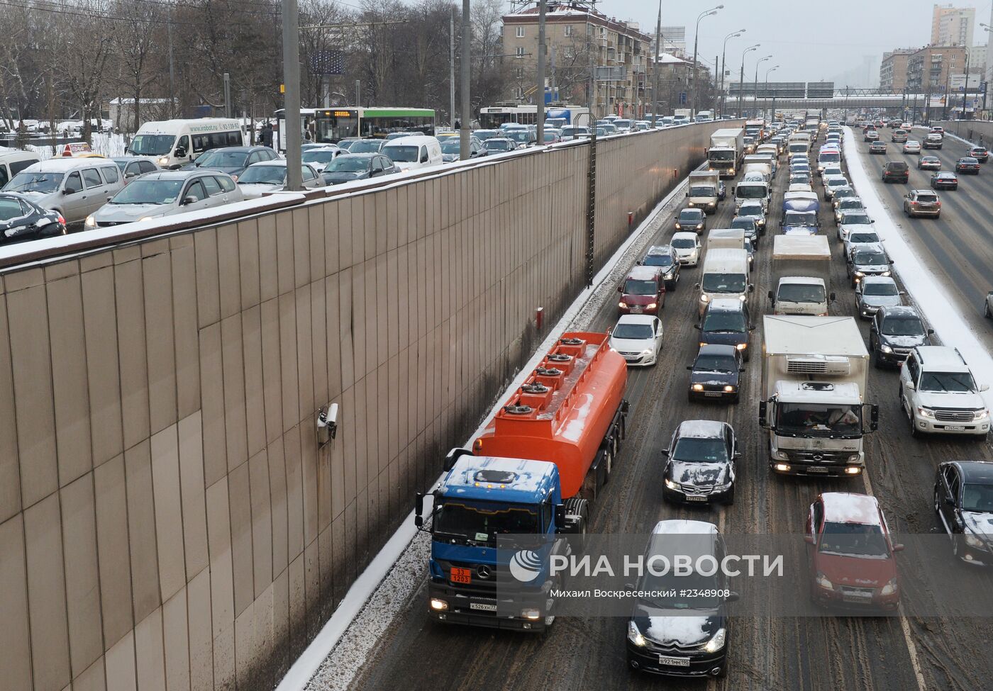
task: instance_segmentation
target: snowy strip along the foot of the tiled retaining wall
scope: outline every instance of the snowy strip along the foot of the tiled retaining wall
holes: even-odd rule
[[[684,186],[680,185],[662,200],[618,248],[594,277],[593,288],[583,291],[573,302],[531,360],[500,394],[491,415],[496,412],[499,403],[523,383],[564,331],[583,330],[603,307],[604,300],[614,300],[612,291],[598,289],[605,283],[613,284],[621,280],[621,274],[628,270],[635,257],[644,252],[654,236],[660,217],[664,217],[664,212],[676,204],[683,190]],[[467,441],[467,447],[483,432],[489,419],[490,416]],[[408,516],[372,564],[359,576],[332,619],[294,662],[277,691],[350,689],[369,652],[376,647],[379,638],[423,583],[430,552],[430,537],[427,533],[417,532],[413,527],[413,516]]]

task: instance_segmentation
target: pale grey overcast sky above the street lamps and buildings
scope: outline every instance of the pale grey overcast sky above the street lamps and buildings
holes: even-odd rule
[[[802,0],[712,0],[673,2],[662,0],[662,26],[686,27],[686,51],[693,53],[693,27],[699,14],[723,2],[724,9],[700,22],[699,55],[712,63],[721,54],[724,37],[746,29],[740,39],[728,42],[727,69],[738,78],[742,51],[756,43],[762,48],[750,53],[745,62],[745,78],[755,77],[755,61],[770,54],[766,69],[780,68],[769,75],[778,81],[835,80],[856,84],[865,81],[866,59],[872,83],[879,78],[883,52],[893,48],[917,48],[930,41],[931,9],[925,0],[900,0],[896,4],[876,0],[855,5]],[[941,4],[948,4],[947,0]],[[958,0],[956,7],[976,8],[977,32],[974,45],[985,44],[987,34],[979,22],[990,24],[990,0]],[[603,0],[597,9],[609,17],[636,21],[644,32],[654,33],[657,0]],[[861,78],[858,78],[861,76]]]

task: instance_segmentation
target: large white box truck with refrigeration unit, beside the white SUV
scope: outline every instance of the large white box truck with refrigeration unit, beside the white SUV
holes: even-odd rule
[[[763,318],[759,424],[781,475],[855,477],[879,407],[866,403],[869,352],[853,317]]]

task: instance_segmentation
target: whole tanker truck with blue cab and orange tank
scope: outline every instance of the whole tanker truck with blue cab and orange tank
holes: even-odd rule
[[[609,339],[563,334],[472,451],[449,452],[440,483],[417,494],[414,523],[431,533],[435,621],[532,631],[555,621],[548,556],[585,549],[589,502],[625,437],[628,365]],[[512,571],[521,540],[533,540],[533,578],[500,579],[497,597],[497,574]]]

